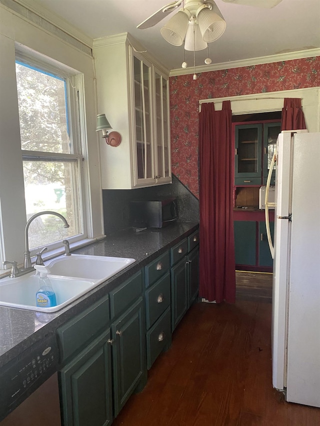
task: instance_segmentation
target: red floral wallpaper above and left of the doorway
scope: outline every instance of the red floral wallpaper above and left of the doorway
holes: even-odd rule
[[[320,56],[170,77],[172,173],[198,197],[199,99],[320,86]]]

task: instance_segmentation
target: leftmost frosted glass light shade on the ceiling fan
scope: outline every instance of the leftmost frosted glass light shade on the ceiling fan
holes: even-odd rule
[[[190,13],[186,9],[180,9],[160,29],[162,37],[174,46],[181,46],[188,27]]]

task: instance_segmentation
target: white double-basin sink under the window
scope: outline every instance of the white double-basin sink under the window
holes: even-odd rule
[[[40,312],[56,312],[83,296],[103,281],[122,271],[135,259],[71,254],[46,262],[56,306],[36,306],[39,276],[35,271],[17,278],[0,279],[0,306]]]

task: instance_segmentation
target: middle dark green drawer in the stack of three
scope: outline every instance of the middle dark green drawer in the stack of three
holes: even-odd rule
[[[167,272],[157,281],[154,286],[145,292],[145,313],[146,328],[149,329],[152,324],[163,314],[170,306],[171,298],[170,273]]]

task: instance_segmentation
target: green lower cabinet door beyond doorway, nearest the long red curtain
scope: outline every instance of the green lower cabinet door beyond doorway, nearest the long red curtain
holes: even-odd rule
[[[255,265],[255,221],[239,220],[233,226],[235,264]]]

